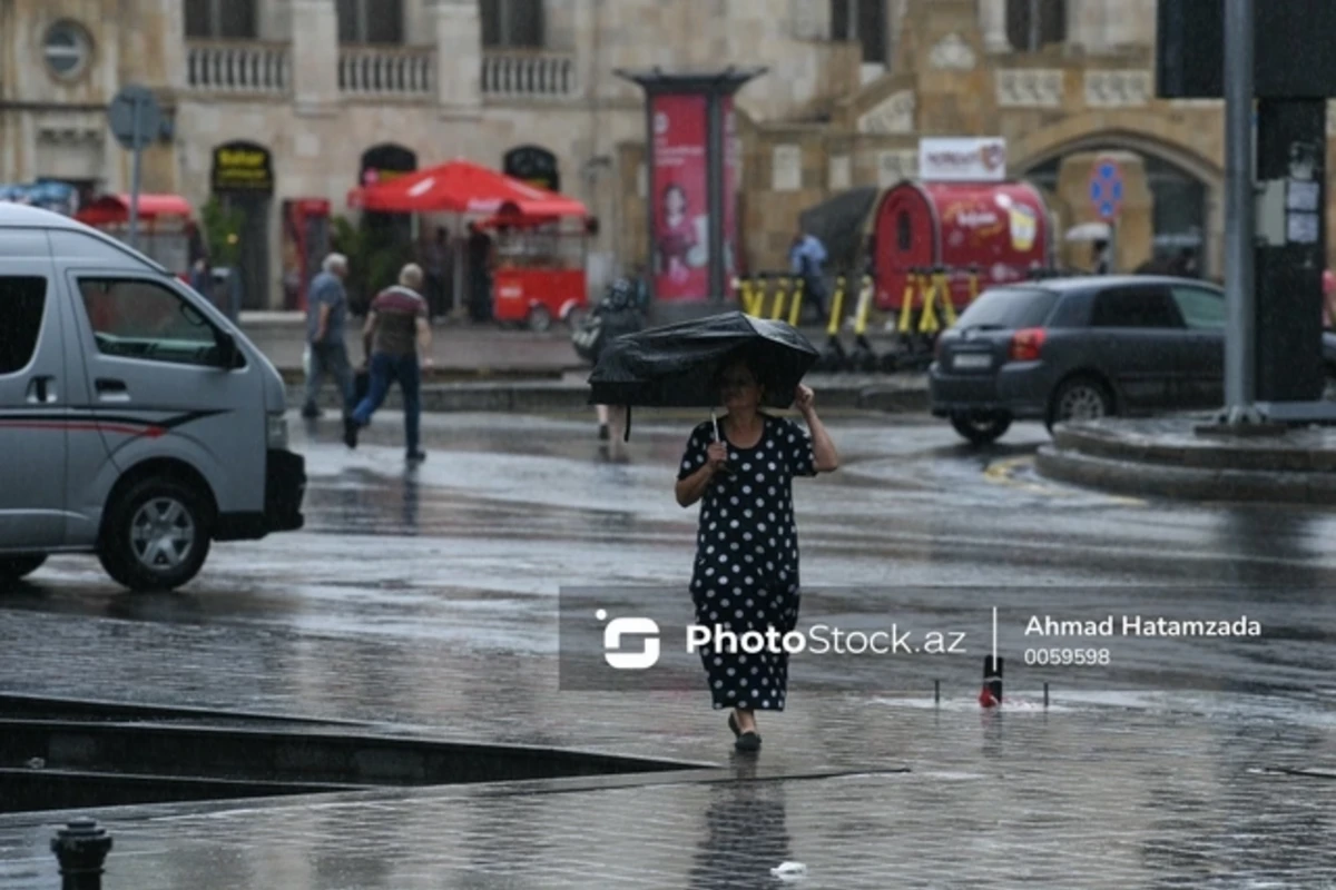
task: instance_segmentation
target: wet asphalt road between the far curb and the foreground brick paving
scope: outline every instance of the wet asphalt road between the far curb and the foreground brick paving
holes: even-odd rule
[[[302,532],[219,544],[200,578],[172,595],[130,595],[91,559],[53,559],[0,606],[204,624],[239,647],[259,632],[550,656],[561,587],[613,588],[599,594],[613,614],[657,615],[668,603],[668,620],[683,616],[685,596],[673,591],[689,576],[696,510],[677,507],[672,480],[695,420],[637,414],[632,442],[609,455],[584,416],[437,415],[424,420],[429,459],[406,467],[397,415],[379,415],[355,452],[333,419],[294,419],[310,475]],[[844,466],[796,483],[804,620],[864,632],[895,623],[915,639],[961,632],[969,656],[904,658],[891,679],[872,659],[823,662],[804,671],[807,683],[888,693],[921,693],[943,677],[969,683],[997,607],[1009,677],[1031,694],[1042,681],[1120,703],[1259,693],[1287,713],[1333,721],[1328,515],[1047,483],[1030,467],[1046,442],[1035,424],[977,450],[927,419],[827,422]],[[1261,635],[1045,640],[1025,634],[1035,615],[1117,615],[1120,624],[1122,615],[1246,615]],[[1106,648],[1110,663],[1022,670],[1027,648],[1058,646]],[[679,667],[683,689],[696,690],[696,664]]]

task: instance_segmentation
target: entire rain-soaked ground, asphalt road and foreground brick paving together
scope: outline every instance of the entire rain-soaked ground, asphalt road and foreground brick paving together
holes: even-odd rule
[[[758,763],[863,775],[745,781],[703,687],[558,689],[561,587],[616,587],[628,607],[640,586],[685,598],[696,512],[676,506],[672,479],[695,422],[637,416],[615,463],[592,415],[433,416],[429,458],[411,468],[391,414],[355,452],[333,422],[297,422],[306,530],[220,544],[174,595],[128,595],[95,562],[53,559],[0,602],[0,687],[711,761],[744,781],[127,814],[108,886],[775,886],[786,859],[808,865],[806,887],[1336,875],[1332,786],[1261,771],[1336,762],[1336,523],[1041,483],[1023,468],[1045,440],[1031,424],[981,452],[938,423],[835,418],[844,468],[796,484],[814,608],[868,630],[958,624],[978,640],[967,658],[846,677],[795,667],[790,711],[762,719]],[[1006,474],[989,472],[1002,462]],[[1009,702],[982,713],[993,606]],[[1027,646],[1073,644],[1031,643],[1029,614],[1152,608],[1246,614],[1264,632],[1113,640],[1104,674],[1025,664]],[[858,670],[890,682],[859,691]],[[840,679],[854,685],[830,689]],[[912,773],[875,773],[902,765]],[[0,885],[55,886],[48,837],[0,819]]]

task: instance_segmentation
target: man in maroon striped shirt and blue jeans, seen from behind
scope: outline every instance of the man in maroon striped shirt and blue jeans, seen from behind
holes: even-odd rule
[[[362,328],[370,387],[366,398],[343,424],[343,442],[355,448],[357,431],[371,422],[371,415],[390,391],[390,383],[397,382],[403,394],[406,456],[414,463],[426,459],[426,454],[418,447],[422,416],[421,368],[432,366],[432,324],[421,294],[422,279],[422,268],[409,263],[399,272],[399,283],[381,291],[371,300],[366,326]]]

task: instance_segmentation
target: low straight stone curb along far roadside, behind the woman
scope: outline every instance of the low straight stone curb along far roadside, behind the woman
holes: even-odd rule
[[[826,386],[819,390],[820,403],[828,408],[921,414],[927,411],[927,386]],[[289,408],[301,408],[305,387],[287,387]],[[585,411],[591,408],[589,387],[570,383],[448,383],[422,387],[422,411],[426,412],[516,412]],[[331,386],[321,390],[318,400],[326,411],[339,411],[342,404]],[[391,387],[382,408],[402,411],[403,398]]]

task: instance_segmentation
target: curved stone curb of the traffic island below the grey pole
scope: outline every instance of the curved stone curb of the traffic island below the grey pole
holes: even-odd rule
[[[1327,472],[1166,466],[1041,446],[1039,475],[1088,488],[1154,499],[1336,504],[1336,476]]]

